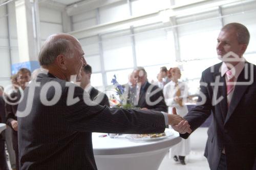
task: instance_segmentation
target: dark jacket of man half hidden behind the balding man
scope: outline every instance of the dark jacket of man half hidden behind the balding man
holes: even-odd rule
[[[96,88],[92,87],[92,89],[89,91],[89,94],[90,94],[90,98],[92,101],[96,101],[98,103],[97,99],[99,99],[100,100],[99,101],[100,103],[98,103],[99,105],[110,106],[109,98],[108,98],[108,96],[106,96],[105,93],[102,93],[99,90],[97,90]],[[100,95],[103,95],[103,96],[100,96]]]

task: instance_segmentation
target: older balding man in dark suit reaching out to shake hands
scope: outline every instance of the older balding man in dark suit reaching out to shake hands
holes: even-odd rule
[[[20,167],[25,169],[97,169],[92,132],[156,133],[175,125],[178,115],[100,106],[72,83],[86,65],[79,41],[69,34],[47,38],[39,53],[38,74],[18,105]]]

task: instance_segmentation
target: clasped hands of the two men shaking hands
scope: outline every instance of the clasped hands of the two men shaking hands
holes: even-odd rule
[[[168,114],[168,121],[168,124],[180,134],[192,132],[188,122],[177,114],[176,108],[173,108],[173,114]]]

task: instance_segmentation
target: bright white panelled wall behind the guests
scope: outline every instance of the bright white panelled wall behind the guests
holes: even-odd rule
[[[171,1],[131,0],[130,2],[132,16],[138,16],[164,10],[170,7]],[[175,5],[182,5],[197,1],[173,2]],[[201,7],[199,10],[193,9],[194,14],[187,14],[188,7],[187,10],[183,10],[182,15],[175,16],[174,21],[170,20],[169,22],[166,21],[166,17],[163,22],[161,15],[149,15],[134,23],[133,29],[120,27],[111,32],[102,30],[102,34],[100,34],[102,41],[98,43],[93,41],[90,46],[89,40],[86,45],[88,47],[84,47],[84,50],[86,56],[96,48],[99,50],[99,52],[88,56],[88,62],[99,68],[100,61],[103,61],[104,66],[101,68],[104,70],[96,69],[98,72],[95,72],[106,75],[106,84],[104,85],[110,84],[114,74],[120,75],[120,81],[125,83],[126,75],[136,66],[134,63],[146,68],[150,81],[156,80],[161,66],[179,65],[182,71],[182,80],[188,83],[190,93],[196,93],[199,89],[201,72],[220,62],[216,55],[216,44],[219,31],[223,26],[222,21],[224,25],[229,22],[241,22],[248,27],[251,40],[245,58],[256,63],[254,48],[256,45],[256,22],[253,18],[256,15],[255,7],[255,1],[222,5],[220,6],[222,16],[218,7]],[[127,1],[101,7],[98,11],[98,14],[97,10],[92,10],[72,16],[74,31],[92,26],[97,29],[97,18],[98,23],[102,24],[126,19],[131,15]],[[86,43],[85,39],[82,41],[83,43]],[[101,50],[97,44],[102,44],[102,56],[100,56]]]

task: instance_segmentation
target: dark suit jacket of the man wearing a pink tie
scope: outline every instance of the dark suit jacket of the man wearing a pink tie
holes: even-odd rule
[[[194,131],[204,120],[213,113],[213,119],[208,129],[208,140],[205,148],[205,156],[208,159],[210,169],[216,170],[219,164],[222,149],[225,148],[227,169],[252,170],[256,156],[256,66],[246,62],[248,76],[252,76],[251,85],[236,85],[232,100],[227,108],[225,76],[221,77],[219,71],[222,63],[214,65],[214,72],[207,68],[202,73],[201,92],[206,97],[203,105],[198,105],[184,117],[188,120],[191,129]],[[245,67],[246,68],[246,67]],[[249,82],[245,78],[245,68],[238,77],[238,82]],[[253,74],[252,74],[253,73]],[[224,99],[214,105],[214,86],[210,83],[220,78],[223,86],[218,87],[217,99],[223,96]],[[216,88],[217,89],[217,88]],[[202,98],[199,99],[199,102]],[[187,138],[188,134],[181,134]]]

